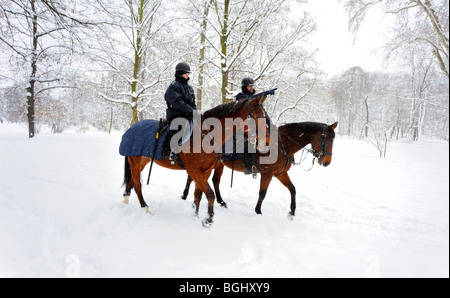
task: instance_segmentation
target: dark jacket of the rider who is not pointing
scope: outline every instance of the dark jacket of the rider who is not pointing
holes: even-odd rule
[[[167,88],[164,95],[167,103],[167,120],[178,117],[192,119],[194,110],[197,110],[194,89],[188,84],[188,81],[189,79],[177,76],[176,80]]]

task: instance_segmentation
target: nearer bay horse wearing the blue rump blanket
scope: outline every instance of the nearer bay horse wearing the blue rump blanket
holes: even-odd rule
[[[222,128],[220,136],[221,138],[219,138],[219,140],[214,139],[214,142],[218,141],[219,144],[216,145],[219,145],[220,146],[219,148],[221,148],[221,146],[223,146],[223,144],[230,137],[232,137],[233,133],[235,133],[237,130],[249,132],[249,126],[245,125],[244,121],[233,121],[234,125],[233,127],[230,128],[226,127],[228,121],[225,121],[225,119],[235,120],[240,118],[245,120],[247,118],[253,118],[253,120],[255,120],[255,123],[258,123],[257,121],[266,121],[263,108],[263,103],[266,98],[267,98],[266,95],[261,95],[258,97],[249,98],[248,100],[244,100],[242,102],[230,102],[227,104],[222,104],[211,110],[206,111],[201,116],[201,123],[199,125],[199,129],[201,129],[201,140],[200,140],[202,142],[201,144],[203,144],[204,138],[207,138],[205,140],[206,142],[212,141],[210,131],[204,129],[203,127],[204,126],[203,123],[208,119],[220,121]],[[205,124],[205,126],[208,125]],[[263,133],[264,137],[266,133],[267,132],[264,131]],[[209,227],[213,223],[215,194],[212,188],[209,186],[208,179],[209,176],[211,175],[212,170],[216,168],[220,162],[220,154],[216,152],[207,153],[203,150],[204,149],[203,146],[200,146],[201,147],[200,153],[192,153],[191,148],[193,148],[194,146],[193,145],[194,135],[191,136],[189,142],[183,145],[184,147],[181,147],[182,150],[179,153],[179,160],[181,161],[182,165],[184,165],[184,168],[188,173],[188,175],[191,177],[191,179],[195,181],[197,187],[202,191],[202,193],[205,193],[207,197],[209,217],[207,219],[204,219],[202,223],[205,227]],[[261,142],[261,144],[262,143],[265,144],[265,142]],[[148,213],[150,213],[150,211],[142,195],[141,172],[145,168],[145,166],[151,161],[152,158],[148,156],[125,156],[124,185],[126,185],[126,187],[125,192],[123,194],[124,203],[126,204],[128,203],[131,194],[131,189],[134,188],[136,195],[139,199],[141,208],[145,209],[146,212]],[[169,159],[160,159],[160,160],[155,159],[154,163],[172,170],[183,170],[183,168],[179,163],[173,164]]]

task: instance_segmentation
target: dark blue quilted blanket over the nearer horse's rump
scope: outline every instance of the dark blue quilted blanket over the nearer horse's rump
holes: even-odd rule
[[[165,129],[159,136],[156,144],[156,133],[158,132],[159,121],[142,120],[130,127],[122,136],[119,153],[122,156],[147,156],[153,158],[153,150],[156,147],[154,159],[163,159],[164,140],[168,129]]]

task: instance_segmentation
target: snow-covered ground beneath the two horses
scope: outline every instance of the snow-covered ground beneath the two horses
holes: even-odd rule
[[[273,180],[225,170],[215,223],[179,199],[184,171],[153,168],[122,203],[122,133],[46,132],[0,124],[0,277],[449,277],[449,144],[337,137],[328,168],[300,167],[297,216]],[[143,172],[146,181],[148,167]]]

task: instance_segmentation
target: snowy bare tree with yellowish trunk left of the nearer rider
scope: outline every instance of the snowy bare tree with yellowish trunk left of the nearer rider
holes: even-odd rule
[[[111,92],[100,95],[128,106],[132,125],[155,97],[161,96],[159,85],[171,66],[161,54],[169,42],[165,30],[171,20],[163,18],[162,0],[126,0],[125,4],[104,6],[112,25],[105,29],[108,38],[97,38],[97,47],[99,61],[117,78],[116,84],[108,86]]]

